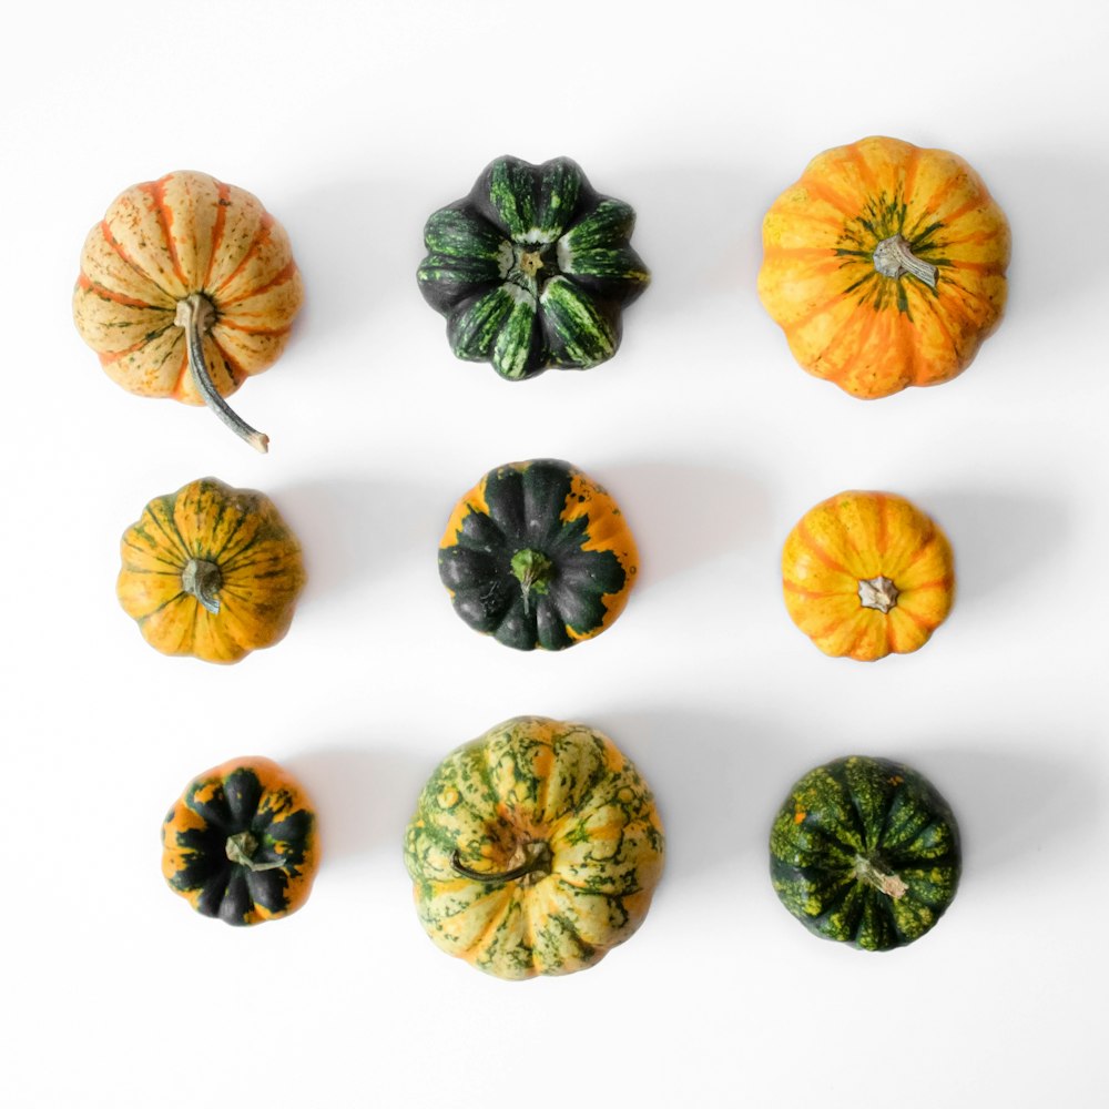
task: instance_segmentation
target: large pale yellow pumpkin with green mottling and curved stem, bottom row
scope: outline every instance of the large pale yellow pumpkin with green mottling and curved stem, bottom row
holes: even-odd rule
[[[643,923],[662,872],[654,800],[611,740],[517,716],[449,754],[405,836],[433,942],[498,978],[584,969]]]

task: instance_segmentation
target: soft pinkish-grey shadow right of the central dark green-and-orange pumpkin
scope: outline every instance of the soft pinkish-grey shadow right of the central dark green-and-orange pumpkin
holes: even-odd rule
[[[640,588],[764,538],[766,489],[739,470],[681,461],[608,466],[604,485],[631,522]]]

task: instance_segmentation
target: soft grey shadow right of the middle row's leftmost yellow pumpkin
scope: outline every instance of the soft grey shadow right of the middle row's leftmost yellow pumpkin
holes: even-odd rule
[[[302,537],[307,596],[339,593],[360,579],[435,552],[450,512],[441,490],[404,480],[335,477],[274,491],[282,516]]]

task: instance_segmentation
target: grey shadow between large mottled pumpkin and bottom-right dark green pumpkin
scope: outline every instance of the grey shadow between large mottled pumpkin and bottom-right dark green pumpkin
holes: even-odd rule
[[[667,883],[767,865],[774,814],[804,766],[781,731],[688,706],[592,713],[654,793],[667,834]]]

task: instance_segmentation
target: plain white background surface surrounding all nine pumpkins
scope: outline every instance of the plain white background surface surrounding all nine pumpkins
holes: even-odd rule
[[[725,11],[728,14],[725,14]],[[20,6],[4,28],[0,1100],[546,1107],[1103,1103],[1107,21],[1100,3]],[[761,217],[818,151],[952,149],[1013,226],[999,332],[956,381],[863,403],[755,295]],[[521,385],[456,362],[421,227],[487,162],[568,154],[632,203],[653,271],[617,357]],[[196,169],[286,226],[307,301],[210,414],[132,397],[75,334],[89,227]],[[603,637],[522,654],[436,571],[458,496],[566,458],[620,500],[639,588]],[[151,650],[114,596],[153,496],[271,495],[311,582],[232,668]],[[945,528],[959,597],[924,650],[822,655],[782,540],[844,488]],[[449,750],[519,713],[608,732],[668,871],[589,971],[487,978],[425,937],[404,826]],[[766,874],[810,766],[903,759],[955,807],[958,897],[918,944],[810,936]],[[326,859],[295,916],[232,929],[159,873],[196,773],[288,765]]]

